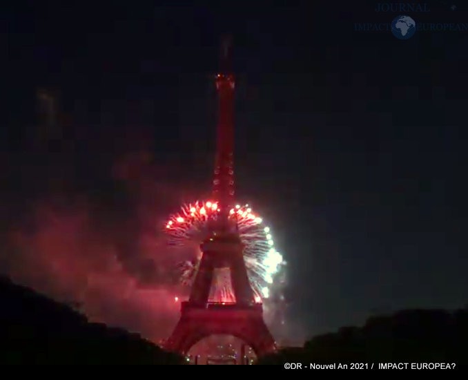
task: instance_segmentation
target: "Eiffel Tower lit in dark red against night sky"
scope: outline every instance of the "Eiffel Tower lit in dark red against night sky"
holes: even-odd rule
[[[231,41],[223,39],[221,70],[215,75],[218,94],[217,149],[213,178],[213,199],[220,212],[209,221],[208,234],[200,246],[202,258],[188,301],[165,348],[180,354],[201,339],[215,334],[235,336],[260,357],[275,350],[275,341],[264,323],[261,303],[255,302],[244,263],[243,245],[237,229],[234,205],[234,91],[231,70]],[[216,269],[228,268],[235,302],[209,302]]]

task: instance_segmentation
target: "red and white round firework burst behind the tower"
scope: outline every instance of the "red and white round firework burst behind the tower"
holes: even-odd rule
[[[168,243],[183,246],[191,240],[201,243],[208,233],[208,220],[214,218],[220,209],[217,202],[195,202],[184,205],[179,213],[166,223]],[[240,238],[244,243],[244,261],[255,301],[269,298],[275,274],[284,263],[282,255],[276,251],[271,229],[264,225],[262,218],[255,215],[248,205],[237,205],[229,211],[229,217],[237,221]],[[199,251],[192,261],[179,265],[181,282],[191,285],[197,272],[202,252]],[[231,302],[234,299],[228,272],[220,272],[214,278],[211,298]]]

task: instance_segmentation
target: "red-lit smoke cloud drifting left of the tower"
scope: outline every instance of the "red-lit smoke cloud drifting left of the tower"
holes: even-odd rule
[[[175,296],[183,292],[177,262],[188,253],[174,254],[165,246],[164,215],[153,199],[166,189],[146,177],[149,164],[148,153],[133,153],[113,168],[115,180],[129,185],[133,202],[124,214],[133,220],[99,210],[83,193],[55,191],[33,202],[8,229],[3,274],[68,303],[91,321],[152,341],[166,338],[179,314]]]

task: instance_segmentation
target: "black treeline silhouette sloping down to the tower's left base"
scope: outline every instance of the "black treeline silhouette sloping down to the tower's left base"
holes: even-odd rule
[[[89,323],[61,305],[0,278],[0,364],[178,364],[137,334]]]

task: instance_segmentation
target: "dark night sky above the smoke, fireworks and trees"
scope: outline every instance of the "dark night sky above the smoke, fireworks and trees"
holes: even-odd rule
[[[289,263],[291,323],[315,334],[466,305],[468,33],[355,31],[398,15],[378,1],[176,3],[2,3],[3,229],[57,179],[120,213],[110,167],[132,150],[149,149],[154,181],[177,189],[162,215],[208,192],[211,75],[230,32],[237,194]],[[468,23],[466,5],[426,3],[408,14]],[[59,94],[67,127],[32,159],[38,88]]]

